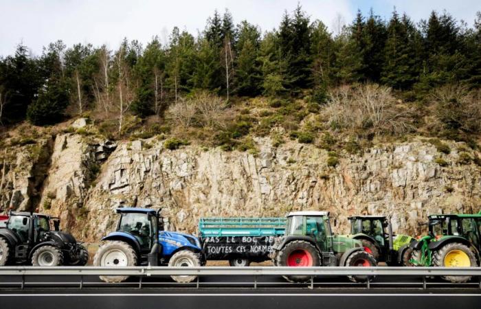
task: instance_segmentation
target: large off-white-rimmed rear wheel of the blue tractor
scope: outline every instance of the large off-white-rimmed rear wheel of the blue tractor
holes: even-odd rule
[[[93,257],[93,266],[137,266],[137,253],[134,249],[120,240],[104,242]],[[100,276],[104,282],[123,282],[128,276]]]

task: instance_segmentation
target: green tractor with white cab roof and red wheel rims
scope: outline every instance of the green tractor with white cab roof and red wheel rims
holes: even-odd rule
[[[362,242],[333,235],[327,211],[295,211],[287,215],[284,236],[273,245],[276,266],[376,266]],[[309,276],[286,276],[290,282],[306,282]],[[349,276],[354,282],[366,276]]]

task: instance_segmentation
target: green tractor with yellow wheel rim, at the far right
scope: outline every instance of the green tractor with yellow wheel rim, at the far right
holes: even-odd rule
[[[480,265],[481,214],[440,214],[429,218],[429,233],[413,242],[414,266],[477,267]],[[446,276],[467,282],[470,276]]]

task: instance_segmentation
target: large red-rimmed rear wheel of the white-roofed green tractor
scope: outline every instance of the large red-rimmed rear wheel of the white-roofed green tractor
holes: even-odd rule
[[[321,257],[317,249],[304,240],[286,244],[277,255],[277,266],[309,267],[320,266]],[[310,276],[283,276],[289,282],[307,282]]]

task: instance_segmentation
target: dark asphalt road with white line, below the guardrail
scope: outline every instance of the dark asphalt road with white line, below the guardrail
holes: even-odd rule
[[[11,284],[9,284],[9,282]],[[51,283],[56,282],[56,286]],[[254,277],[205,277],[197,284],[181,286],[168,277],[138,277],[122,284],[104,284],[98,277],[76,276],[2,277],[0,308],[481,308],[478,282],[451,286],[440,279],[377,277],[367,289],[344,277],[317,278],[309,284],[287,284],[282,277],[262,277],[254,288]],[[48,287],[45,284],[49,284]],[[394,284],[395,283],[395,284]]]

